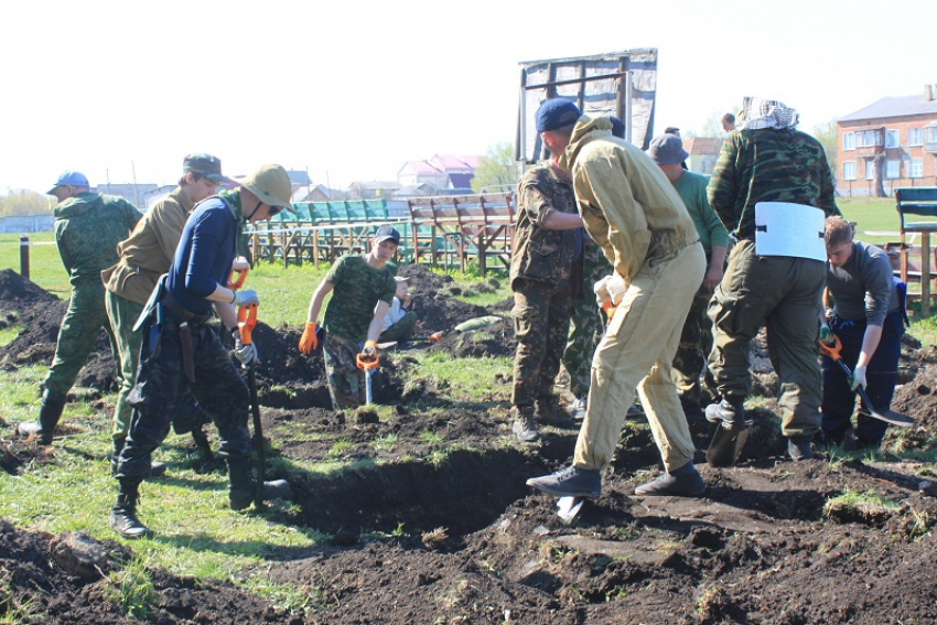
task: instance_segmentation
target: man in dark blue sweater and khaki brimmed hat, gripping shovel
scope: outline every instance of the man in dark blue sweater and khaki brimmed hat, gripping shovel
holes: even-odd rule
[[[254,499],[247,385],[206,322],[214,310],[236,334],[238,360],[246,366],[257,358],[255,345],[241,345],[237,335],[237,308],[259,304],[257,293],[233,291],[226,284],[241,227],[269,219],[289,206],[291,185],[280,165],[263,165],[237,182],[240,187],[236,191],[223,191],[195,206],[172,267],[137,324],[143,331],[143,346],[137,382],[128,398],[133,413],[118,460],[119,489],[110,516],[111,527],[125,538],[150,534],[137,518],[140,482],[149,472],[150,455],[169,433],[186,389],[218,428],[219,454],[228,464],[231,509],[244,509]],[[287,494],[286,481],[265,483],[265,496]]]

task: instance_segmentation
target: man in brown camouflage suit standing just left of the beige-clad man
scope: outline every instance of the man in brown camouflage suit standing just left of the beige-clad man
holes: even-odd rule
[[[579,118],[572,105],[567,122]],[[537,131],[563,123],[537,116]],[[575,209],[572,180],[557,155],[527,170],[517,184],[517,218],[510,256],[514,291],[511,431],[520,442],[538,439],[537,423],[572,425],[560,411],[553,382],[567,344],[572,313],[571,272],[582,257],[582,219]],[[575,287],[582,290],[582,272]]]

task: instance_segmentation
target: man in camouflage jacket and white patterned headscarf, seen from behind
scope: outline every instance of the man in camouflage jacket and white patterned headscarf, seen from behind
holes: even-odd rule
[[[795,129],[794,109],[746,98],[740,118],[741,129],[722,144],[707,190],[737,243],[708,310],[713,322],[709,370],[721,401],[706,413],[714,423],[744,428],[743,402],[752,387],[748,344],[764,324],[778,376],[782,432],[791,457],[806,459],[820,428],[817,319],[826,266],[812,258],[756,254],[755,205],[785,202],[817,207],[826,216],[840,212],[823,148]]]

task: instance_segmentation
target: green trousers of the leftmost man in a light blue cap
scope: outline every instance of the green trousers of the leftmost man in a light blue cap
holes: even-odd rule
[[[107,332],[111,351],[117,354],[105,310],[104,293],[105,288],[100,280],[79,281],[72,287],[68,311],[58,328],[55,357],[43,382],[50,399],[65,401],[65,396],[88,360],[101,330]]]

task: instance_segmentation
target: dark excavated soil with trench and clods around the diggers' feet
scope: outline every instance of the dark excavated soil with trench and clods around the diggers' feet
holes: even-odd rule
[[[428,333],[480,314],[509,314],[509,301],[488,310],[470,306],[453,298],[444,277],[401,268],[410,271],[414,310],[431,323],[424,325]],[[11,282],[0,274],[0,288]],[[2,312],[24,333],[50,336],[39,327],[36,306],[10,301],[0,291]],[[46,300],[39,308],[54,305]],[[273,549],[263,565],[272,582],[306,591],[309,608],[287,614],[231,584],[155,571],[148,622],[937,622],[934,467],[843,461],[836,450],[790,462],[771,400],[754,410],[755,427],[735,467],[711,468],[698,452],[708,489],[694,499],[633,495],[636,484],[658,473],[659,456],[645,421],[626,421],[602,496],[586,502],[571,524],[562,522],[554,498],[524,482],[568,464],[577,432],[548,428],[539,443],[515,445],[504,401],[509,380],[485,380],[504,392],[466,405],[448,396],[444,380],[421,378],[408,355],[410,348],[509,354],[507,319],[476,335],[450,333],[431,347],[383,352],[379,387],[381,402],[395,407],[389,418],[368,408],[345,416],[332,411],[321,356],[298,353],[294,328],[261,324],[258,379],[272,454],[357,461],[327,476],[271,471],[291,481],[297,504],[271,518],[330,537],[313,549]],[[49,341],[54,349],[54,333]],[[30,346],[39,343],[33,338]],[[905,345],[905,384],[893,406],[916,423],[890,431],[886,445],[926,453],[937,444],[937,365],[934,351],[919,347]],[[97,352],[103,359],[106,348],[105,342]],[[26,362],[18,359],[21,353],[8,346],[7,366]],[[753,369],[767,394],[774,381],[763,345],[755,356]],[[708,424],[690,428],[704,450]],[[10,439],[10,432],[11,424],[0,419],[3,468],[34,471],[47,452]],[[847,491],[874,492],[892,505],[827,506]],[[39,616],[30,623],[130,623],[111,599],[109,582],[79,574],[72,559],[61,557],[66,542],[0,520],[0,619],[31,599],[31,613]],[[99,543],[101,572],[119,569],[132,548]]]

